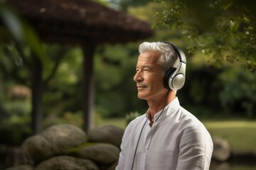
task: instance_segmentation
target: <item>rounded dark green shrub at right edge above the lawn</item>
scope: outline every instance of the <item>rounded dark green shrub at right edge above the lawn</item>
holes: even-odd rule
[[[230,68],[220,74],[225,83],[220,92],[220,102],[226,110],[233,113],[245,111],[247,118],[255,118],[256,76],[252,72],[240,72],[238,68]]]

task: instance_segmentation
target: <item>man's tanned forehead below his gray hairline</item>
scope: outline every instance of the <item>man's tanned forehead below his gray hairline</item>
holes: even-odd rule
[[[149,51],[149,52],[142,52],[138,57],[137,66],[140,64],[147,64],[149,66],[152,65],[159,65],[158,60],[160,57],[160,52]]]

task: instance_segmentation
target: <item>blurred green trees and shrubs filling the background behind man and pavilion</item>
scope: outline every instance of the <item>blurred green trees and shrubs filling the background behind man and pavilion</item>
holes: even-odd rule
[[[228,1],[221,3],[225,2]],[[165,3],[166,1],[163,1],[162,4],[166,5]],[[188,62],[186,84],[183,89],[178,91],[181,105],[198,118],[221,116],[252,118],[255,116],[253,115],[255,110],[255,96],[253,95],[255,94],[255,74],[244,72],[242,69],[222,67],[222,64],[227,62],[245,66],[246,60],[248,61],[246,67],[250,69],[249,64],[253,67],[252,63],[255,59],[253,55],[255,50],[253,49],[254,37],[252,36],[252,40],[247,41],[248,45],[246,42],[247,38],[254,33],[249,26],[252,25],[251,18],[247,17],[247,20],[246,17],[240,17],[235,18],[232,22],[226,22],[229,16],[234,17],[235,14],[232,10],[229,15],[223,16],[224,18],[221,16],[215,18],[215,12],[211,9],[209,9],[211,11],[209,16],[199,15],[207,13],[208,10],[197,11],[193,14],[193,8],[200,6],[193,6],[192,1],[192,4],[189,5],[192,5],[193,8],[188,11],[191,17],[188,17],[186,11],[182,11],[183,8],[188,10],[186,1],[173,1],[171,3],[177,3],[179,6],[166,6],[166,10],[168,8],[173,9],[171,11],[163,10],[162,14],[166,17],[164,18],[166,19],[166,26],[169,28],[159,26],[156,35],[145,41],[166,40],[174,42],[186,53]],[[222,7],[219,6],[221,8],[218,8],[218,11],[220,14],[224,13],[232,6],[233,4],[223,4]],[[145,6],[130,6],[128,11],[133,16],[153,23],[154,11],[161,11],[161,9],[161,4],[148,3]],[[229,11],[226,12],[229,13]],[[168,17],[169,15],[173,16]],[[158,14],[156,16],[158,17]],[[213,17],[214,21],[207,19],[211,25],[201,26],[205,18],[199,18],[197,22],[194,22],[192,16]],[[220,22],[220,18],[222,22]],[[161,22],[161,20],[158,21]],[[188,23],[191,25],[185,21],[189,21]],[[245,24],[245,21],[248,23]],[[225,28],[225,30],[218,30],[218,28]],[[253,25],[252,28],[254,28]],[[243,31],[240,31],[241,29]],[[249,35],[245,31],[246,29],[250,30]],[[6,31],[6,28],[3,31]],[[30,86],[33,47],[30,47],[28,43],[21,45],[16,40],[4,41],[6,38],[4,33],[6,32],[0,34],[0,116],[6,124],[1,124],[3,126],[0,128],[9,134],[16,134],[11,131],[14,130],[13,125],[22,124],[28,128],[31,98],[17,101],[13,98],[7,98],[5,92],[9,92],[11,86],[15,84]],[[6,33],[6,35],[9,34]],[[114,117],[116,119],[112,120],[112,123],[115,125],[123,123],[122,126],[124,126],[137,117],[138,113],[145,113],[148,106],[145,101],[137,98],[136,84],[133,81],[140,42],[126,45],[102,45],[96,48],[93,70],[96,125],[99,125],[106,118]],[[43,51],[46,52],[49,59],[46,60],[46,64],[43,64],[44,125],[70,123],[79,127],[82,126],[83,54],[81,48],[45,44]],[[241,54],[245,56],[240,57]],[[206,55],[209,57],[207,58]],[[213,67],[212,63],[219,64],[220,67]],[[132,113],[134,110],[138,112]],[[120,118],[124,118],[125,115],[127,115],[127,120],[124,123]],[[24,133],[18,132],[28,134],[26,128],[19,129],[23,130]],[[22,137],[11,138],[17,139],[16,141],[22,139]]]

